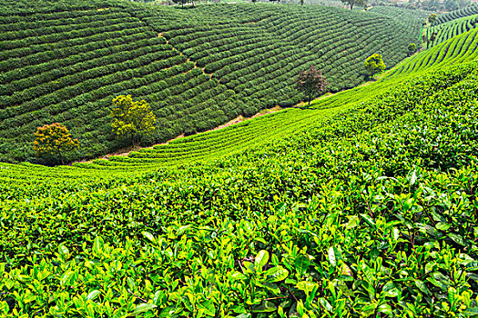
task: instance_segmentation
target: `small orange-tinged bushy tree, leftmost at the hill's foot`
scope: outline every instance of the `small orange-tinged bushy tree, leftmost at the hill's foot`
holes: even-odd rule
[[[58,155],[61,164],[65,164],[63,154],[72,152],[78,147],[78,140],[71,137],[63,124],[46,124],[36,128],[33,149],[39,156]]]

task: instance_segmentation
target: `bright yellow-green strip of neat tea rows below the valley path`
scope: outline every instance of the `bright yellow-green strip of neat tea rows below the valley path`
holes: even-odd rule
[[[97,175],[117,175],[147,172],[184,164],[205,163],[223,156],[241,153],[254,146],[273,143],[284,137],[307,131],[331,116],[368,103],[383,91],[391,90],[407,78],[423,72],[444,69],[476,59],[478,30],[455,36],[431,50],[413,55],[395,66],[371,84],[363,85],[314,101],[310,108],[290,108],[268,114],[227,128],[179,138],[169,144],[160,144],[133,152],[129,156],[111,156],[108,160],[95,160],[93,164],[74,164],[54,169],[31,164],[0,164],[6,184],[15,181],[37,183],[45,176],[60,179],[83,178]],[[79,168],[79,169],[78,169]],[[98,173],[97,170],[101,172]]]

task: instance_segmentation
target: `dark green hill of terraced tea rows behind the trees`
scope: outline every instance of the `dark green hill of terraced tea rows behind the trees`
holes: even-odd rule
[[[158,117],[144,141],[151,144],[297,104],[293,79],[311,64],[332,91],[352,87],[372,53],[389,67],[402,60],[421,20],[318,5],[0,5],[0,160],[7,162],[35,161],[33,133],[54,122],[80,140],[70,159],[123,146],[109,125],[117,94],[151,104]]]

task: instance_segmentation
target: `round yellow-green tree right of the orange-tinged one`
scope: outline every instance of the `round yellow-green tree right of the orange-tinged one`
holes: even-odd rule
[[[113,99],[111,124],[113,132],[119,137],[128,137],[135,146],[137,136],[153,134],[156,116],[145,100],[133,101],[131,95],[119,95]]]

